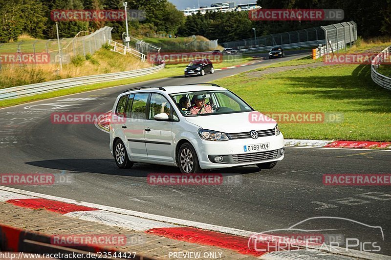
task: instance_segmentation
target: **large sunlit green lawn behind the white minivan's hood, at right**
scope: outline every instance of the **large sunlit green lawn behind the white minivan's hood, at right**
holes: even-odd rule
[[[344,116],[342,123],[281,123],[286,139],[391,141],[391,92],[371,80],[369,65],[246,75],[214,82],[260,112],[334,112]]]

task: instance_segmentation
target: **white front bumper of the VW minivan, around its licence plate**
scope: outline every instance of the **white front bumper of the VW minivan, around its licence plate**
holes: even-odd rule
[[[244,145],[270,143],[270,148],[256,152],[244,152]],[[278,136],[260,137],[258,139],[238,139],[228,141],[207,141],[193,139],[191,143],[198,155],[199,165],[202,169],[230,168],[253,165],[263,162],[278,161],[284,158],[282,148],[284,141],[282,134]],[[214,158],[221,156],[221,162]]]

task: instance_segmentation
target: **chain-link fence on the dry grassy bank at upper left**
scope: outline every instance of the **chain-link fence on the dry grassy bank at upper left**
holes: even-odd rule
[[[81,31],[73,38],[49,40],[22,40],[0,45],[1,65],[58,64],[69,63],[76,55],[93,54],[107,40],[111,40],[111,27],[105,26],[95,32]],[[61,34],[61,32],[60,32]],[[59,44],[60,42],[60,44]],[[60,45],[60,46],[59,46]]]

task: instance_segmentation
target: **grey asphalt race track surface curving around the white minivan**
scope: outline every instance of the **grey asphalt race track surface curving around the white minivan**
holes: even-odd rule
[[[347,218],[382,227],[384,241],[378,229],[345,220],[310,220],[301,227],[338,228],[330,232],[360,243],[380,241],[380,253],[391,255],[390,186],[325,186],[322,181],[327,173],[390,173],[389,151],[287,147],[285,159],[270,170],[248,166],[214,171],[239,174],[238,183],[231,185],[150,185],[149,173],[178,173],[179,169],[143,163],[118,169],[107,133],[93,124],[52,124],[50,120],[53,112],[109,111],[117,95],[132,87],[208,82],[301,56],[303,52],[287,52],[283,59],[204,77],[165,78],[1,109],[0,173],[70,176],[72,183],[11,187],[254,232],[286,229],[311,217]]]

